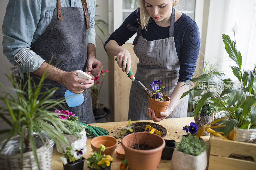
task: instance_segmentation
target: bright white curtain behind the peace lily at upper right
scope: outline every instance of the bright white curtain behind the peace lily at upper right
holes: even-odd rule
[[[242,69],[253,69],[256,64],[256,1],[255,0],[211,0],[207,26],[204,59],[231,79],[230,65],[236,65],[228,57],[221,34],[235,41],[232,27],[238,26],[236,45],[242,54]]]

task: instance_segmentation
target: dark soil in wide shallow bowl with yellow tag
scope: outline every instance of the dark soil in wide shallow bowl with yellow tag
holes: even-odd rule
[[[166,136],[167,130],[163,126],[161,126],[159,124],[156,124],[156,123],[152,123],[152,122],[136,122],[136,123],[132,123],[131,127],[133,128],[134,132],[144,132],[147,124],[149,126],[151,126],[152,128],[155,128],[156,130],[162,132],[161,137]],[[146,132],[148,132],[148,131],[146,131]],[[124,136],[129,135],[129,134],[131,134],[131,132],[127,131],[126,134],[124,134]]]

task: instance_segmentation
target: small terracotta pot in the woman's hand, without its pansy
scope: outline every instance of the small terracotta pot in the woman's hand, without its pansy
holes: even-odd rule
[[[170,103],[169,97],[163,95],[163,98],[167,101],[157,101],[148,96],[149,108],[154,110],[156,117],[161,117],[160,112],[164,112],[166,106]]]

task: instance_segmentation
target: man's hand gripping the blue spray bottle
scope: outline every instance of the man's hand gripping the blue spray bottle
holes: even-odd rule
[[[86,72],[90,74],[90,72]],[[78,74],[75,71],[64,72],[61,74],[61,84],[63,84],[70,92],[80,94],[89,87],[92,87],[94,80],[87,80],[84,78],[78,78]],[[83,83],[83,84],[81,84]]]

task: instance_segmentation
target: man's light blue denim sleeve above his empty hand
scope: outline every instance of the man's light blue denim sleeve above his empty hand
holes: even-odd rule
[[[96,41],[95,41],[96,33],[95,33],[95,27],[94,27],[95,25],[94,18],[95,18],[95,10],[96,10],[95,0],[93,1],[91,8],[92,8],[92,13],[90,13],[90,28],[88,30],[88,43],[94,44],[96,47]]]

